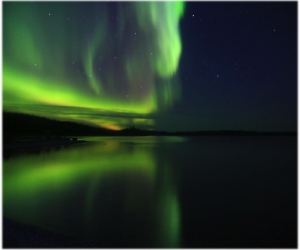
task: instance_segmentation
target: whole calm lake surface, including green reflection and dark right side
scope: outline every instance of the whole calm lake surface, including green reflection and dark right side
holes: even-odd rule
[[[296,247],[296,137],[90,137],[3,161],[3,215],[97,247]]]

